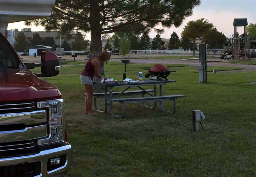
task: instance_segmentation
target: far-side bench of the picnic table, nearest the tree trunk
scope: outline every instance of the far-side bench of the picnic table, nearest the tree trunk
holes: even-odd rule
[[[126,95],[141,95],[141,96],[144,96],[144,94],[147,94],[147,92],[154,92],[153,89],[147,89],[147,90],[132,90],[132,91],[125,91],[125,92],[112,92],[112,96],[119,96],[119,95],[123,95],[123,96],[126,96]],[[109,92],[107,93],[108,94],[108,97],[109,97]],[[86,93],[84,93],[84,95],[86,96]],[[98,110],[97,108],[97,98],[104,98],[105,97],[105,92],[99,92],[99,93],[93,93],[93,98],[94,98],[94,109],[97,111],[97,112],[104,112],[104,111],[101,111],[101,110]]]

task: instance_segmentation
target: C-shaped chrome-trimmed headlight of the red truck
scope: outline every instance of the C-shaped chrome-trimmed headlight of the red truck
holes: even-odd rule
[[[48,100],[37,103],[37,108],[46,108],[49,110],[49,136],[45,139],[38,139],[38,145],[44,145],[48,143],[56,143],[63,141],[62,136],[62,113],[61,104],[63,100]]]

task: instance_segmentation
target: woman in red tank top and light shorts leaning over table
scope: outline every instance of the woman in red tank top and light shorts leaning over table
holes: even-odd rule
[[[107,51],[100,53],[97,57],[90,58],[84,67],[83,72],[81,73],[80,79],[81,83],[84,84],[84,88],[86,91],[85,97],[85,113],[92,115],[97,114],[96,112],[92,111],[92,80],[93,76],[101,79],[100,75],[100,62],[105,62],[110,60],[110,55]]]

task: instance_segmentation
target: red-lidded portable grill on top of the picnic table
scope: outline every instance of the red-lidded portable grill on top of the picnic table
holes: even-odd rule
[[[152,66],[149,70],[148,73],[145,74],[145,77],[148,78],[149,76],[152,77],[152,79],[155,80],[168,80],[166,77],[170,75],[170,73],[176,72],[176,71],[169,71],[169,69],[164,66],[163,64],[156,64]]]

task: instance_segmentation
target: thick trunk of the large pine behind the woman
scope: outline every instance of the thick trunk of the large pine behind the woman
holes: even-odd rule
[[[100,27],[100,10],[97,1],[91,1],[90,3],[90,27],[91,27],[91,44],[90,55],[91,57],[97,57],[102,52],[101,43],[101,27]],[[104,75],[104,63],[100,63],[100,74]],[[94,76],[93,81],[100,81],[101,79]],[[93,84],[93,90],[99,91],[103,88],[98,84]]]

